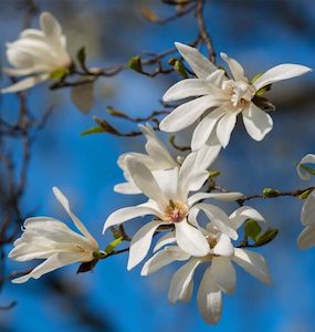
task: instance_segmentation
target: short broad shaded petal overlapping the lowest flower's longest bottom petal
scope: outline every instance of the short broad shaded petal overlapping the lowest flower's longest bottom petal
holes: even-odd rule
[[[211,274],[213,282],[228,294],[231,294],[235,288],[235,269],[228,257],[213,257],[211,263]]]

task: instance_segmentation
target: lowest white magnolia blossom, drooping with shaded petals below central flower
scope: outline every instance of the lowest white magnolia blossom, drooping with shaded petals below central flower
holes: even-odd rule
[[[196,218],[198,209],[195,210]],[[242,267],[246,272],[262,282],[271,283],[267,266],[264,258],[253,251],[235,248],[231,237],[218,228],[218,220],[227,222],[230,227],[238,229],[249,218],[263,221],[263,217],[250,207],[241,207],[228,217],[224,211],[212,216],[211,222],[206,229],[201,229],[208,242],[208,251],[203,257],[190,256],[177,246],[167,246],[150,258],[143,267],[141,274],[148,276],[160,268],[174,262],[188,260],[172,277],[168,299],[171,303],[177,301],[189,301],[193,290],[193,274],[201,264],[207,264],[206,272],[201,279],[197,293],[197,302],[202,319],[210,324],[217,323],[221,317],[222,292],[231,294],[235,287],[235,270],[232,262]],[[216,221],[214,221],[216,220]],[[175,241],[175,238],[161,239],[155,250]]]

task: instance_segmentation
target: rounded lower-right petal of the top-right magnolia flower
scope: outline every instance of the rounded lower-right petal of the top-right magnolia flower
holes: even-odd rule
[[[262,141],[273,127],[271,116],[254,103],[250,103],[249,107],[242,112],[242,115],[249,135],[255,141]]]

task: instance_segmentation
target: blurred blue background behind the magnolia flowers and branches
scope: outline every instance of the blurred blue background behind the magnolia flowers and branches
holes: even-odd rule
[[[140,9],[146,6],[160,17],[174,13],[174,7],[158,0],[49,0],[35,1],[41,11],[52,12],[61,22],[70,52],[85,45],[87,64],[120,64],[141,52],[160,52],[175,41],[190,42],[197,34],[192,15],[167,25],[148,23]],[[6,42],[18,38],[23,24],[23,1],[0,0],[1,62]],[[315,68],[315,2],[293,1],[208,1],[206,23],[216,51],[238,59],[249,77],[284,63]],[[38,17],[32,22],[38,27]],[[218,63],[221,60],[218,58]],[[123,180],[116,165],[122,153],[144,149],[143,137],[122,138],[107,134],[82,137],[93,126],[92,115],[107,117],[112,105],[130,115],[144,116],[160,110],[162,93],[178,75],[146,77],[133,71],[102,79],[95,84],[96,103],[84,115],[71,103],[70,91],[49,91],[46,84],[28,94],[34,116],[54,106],[45,127],[32,147],[23,210],[36,216],[54,216],[71,222],[55,201],[51,188],[61,188],[73,210],[105,247],[109,235],[101,235],[103,224],[117,208],[144,201],[140,196],[122,196],[113,186]],[[222,176],[219,184],[232,190],[256,194],[264,187],[283,190],[314,185],[303,183],[295,164],[307,153],[315,153],[314,73],[281,82],[269,93],[276,105],[274,129],[262,143],[252,141],[240,123],[230,145],[213,166]],[[1,86],[9,82],[3,77]],[[1,113],[10,122],[18,112],[12,94],[1,96]],[[107,117],[108,118],[108,117]],[[111,120],[122,131],[135,129],[122,120]],[[180,142],[187,143],[187,134]],[[19,142],[12,142],[17,165],[21,158]],[[176,154],[176,151],[172,151]],[[1,186],[1,184],[0,184]],[[260,252],[269,261],[273,284],[264,286],[241,269],[232,297],[224,295],[223,314],[218,325],[206,325],[198,312],[196,297],[190,303],[171,305],[167,301],[172,266],[151,277],[140,277],[140,267],[128,272],[127,256],[102,261],[92,273],[75,274],[71,266],[25,284],[4,284],[0,305],[15,300],[9,311],[0,311],[1,332],[36,331],[314,331],[315,249],[301,251],[296,238],[302,230],[300,211],[303,201],[294,198],[256,200],[267,224],[279,228],[279,237]],[[224,205],[227,211],[235,205]],[[126,226],[132,235],[140,221]],[[11,246],[7,246],[9,252]],[[9,271],[33,264],[7,262]],[[196,286],[200,280],[197,273]]]

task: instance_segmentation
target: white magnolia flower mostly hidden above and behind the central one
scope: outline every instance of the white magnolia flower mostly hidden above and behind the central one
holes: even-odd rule
[[[116,193],[127,195],[141,194],[141,190],[135,185],[126,165],[126,160],[130,156],[134,159],[143,163],[145,166],[147,166],[148,169],[153,172],[180,167],[179,162],[170,155],[166,145],[157,137],[155,131],[149,124],[146,124],[145,126],[139,125],[139,128],[147,139],[145,146],[147,155],[141,153],[126,153],[118,158],[118,166],[123,169],[124,177],[127,181],[116,185],[114,187],[114,190]],[[199,162],[196,166],[199,166],[202,170],[208,169],[218,157],[220,151],[221,145],[212,139],[208,145],[204,145],[200,152],[198,152]]]

